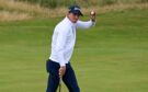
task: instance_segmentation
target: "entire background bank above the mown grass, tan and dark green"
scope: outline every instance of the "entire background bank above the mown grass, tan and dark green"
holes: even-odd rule
[[[54,5],[54,3],[57,4],[57,8],[53,9],[52,7],[42,5],[42,0],[0,0],[0,21],[64,16],[67,11],[67,7],[72,3],[82,3],[82,11],[87,15],[91,10],[95,10],[98,13],[104,13],[107,11],[123,11],[127,9],[148,9],[147,0],[70,0],[71,2],[67,2],[67,4],[64,4],[64,0],[58,1],[60,2],[48,3],[48,5]]]

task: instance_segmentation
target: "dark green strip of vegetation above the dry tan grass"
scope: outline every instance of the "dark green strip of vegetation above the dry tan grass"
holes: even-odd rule
[[[146,3],[148,0],[15,0],[24,1],[29,3],[37,3],[46,8],[67,7],[70,4],[80,4],[82,7],[94,7],[94,5],[111,5],[118,3]]]

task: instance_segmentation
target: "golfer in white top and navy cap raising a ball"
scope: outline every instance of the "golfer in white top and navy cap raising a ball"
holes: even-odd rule
[[[49,73],[46,92],[56,92],[60,78],[69,92],[80,92],[75,71],[70,65],[70,58],[76,43],[76,30],[93,26],[95,24],[95,12],[90,13],[90,21],[87,22],[79,20],[82,15],[80,7],[71,5],[66,18],[54,30],[52,54],[46,64]]]

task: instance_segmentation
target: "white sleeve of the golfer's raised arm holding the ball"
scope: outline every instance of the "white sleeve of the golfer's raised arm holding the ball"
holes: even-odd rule
[[[92,22],[91,20],[87,21],[87,22],[78,21],[76,24],[76,27],[77,28],[89,28],[89,27],[94,26],[94,25],[95,25],[95,22]]]

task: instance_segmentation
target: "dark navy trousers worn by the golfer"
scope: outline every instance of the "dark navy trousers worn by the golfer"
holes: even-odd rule
[[[49,73],[48,76],[48,84],[47,84],[47,90],[46,92],[56,92],[58,84],[59,84],[59,70],[60,66],[58,62],[47,60],[46,64],[46,69],[47,72]],[[62,77],[64,83],[67,85],[69,92],[80,92],[80,89],[77,83],[77,79],[75,76],[75,71],[70,64],[66,65],[66,73]]]

